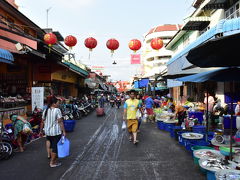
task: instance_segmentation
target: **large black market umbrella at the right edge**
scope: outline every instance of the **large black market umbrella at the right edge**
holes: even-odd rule
[[[192,49],[187,59],[198,67],[240,66],[239,42],[240,33],[213,39]]]

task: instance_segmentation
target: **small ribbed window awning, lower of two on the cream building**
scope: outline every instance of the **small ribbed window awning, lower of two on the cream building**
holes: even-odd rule
[[[210,17],[200,16],[200,17],[190,17],[187,19],[186,23],[183,25],[182,30],[198,30],[201,31],[206,28],[210,23]]]

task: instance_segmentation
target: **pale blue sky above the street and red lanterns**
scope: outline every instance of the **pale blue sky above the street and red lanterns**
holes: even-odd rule
[[[73,35],[78,43],[72,52],[76,60],[88,66],[104,66],[104,75],[111,80],[129,80],[139,65],[130,64],[131,39],[143,40],[152,27],[163,24],[182,24],[192,12],[193,0],[16,0],[19,10],[41,28],[59,31],[63,37]],[[98,41],[91,58],[84,40]],[[111,58],[106,47],[115,38],[120,47]],[[141,51],[139,51],[141,52]],[[115,60],[117,65],[113,65]]]

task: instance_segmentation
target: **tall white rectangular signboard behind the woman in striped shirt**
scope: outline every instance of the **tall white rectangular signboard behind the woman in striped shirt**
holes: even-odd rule
[[[44,87],[32,87],[32,111],[44,106]]]

